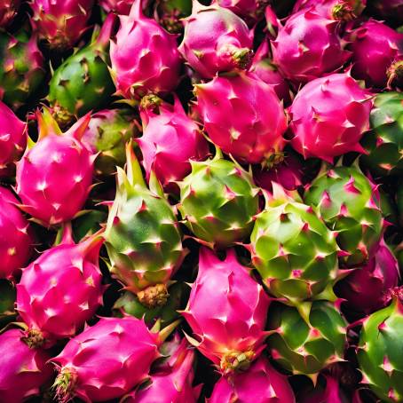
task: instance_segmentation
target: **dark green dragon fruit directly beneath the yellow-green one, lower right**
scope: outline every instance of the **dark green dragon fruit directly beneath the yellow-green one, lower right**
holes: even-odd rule
[[[268,350],[281,367],[313,379],[324,367],[344,358],[346,326],[336,305],[303,303],[298,309],[274,302],[267,314]]]

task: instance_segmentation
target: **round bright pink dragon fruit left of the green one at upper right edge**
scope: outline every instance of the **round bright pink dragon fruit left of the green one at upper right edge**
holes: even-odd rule
[[[289,107],[291,146],[304,158],[333,162],[337,155],[363,152],[360,138],[369,129],[371,94],[348,74],[307,83]]]

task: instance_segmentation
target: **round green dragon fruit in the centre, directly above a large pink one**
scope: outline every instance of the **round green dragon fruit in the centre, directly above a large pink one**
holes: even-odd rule
[[[248,237],[259,203],[251,175],[224,160],[218,149],[213,159],[191,166],[192,172],[178,184],[178,209],[190,231],[216,249]]]

